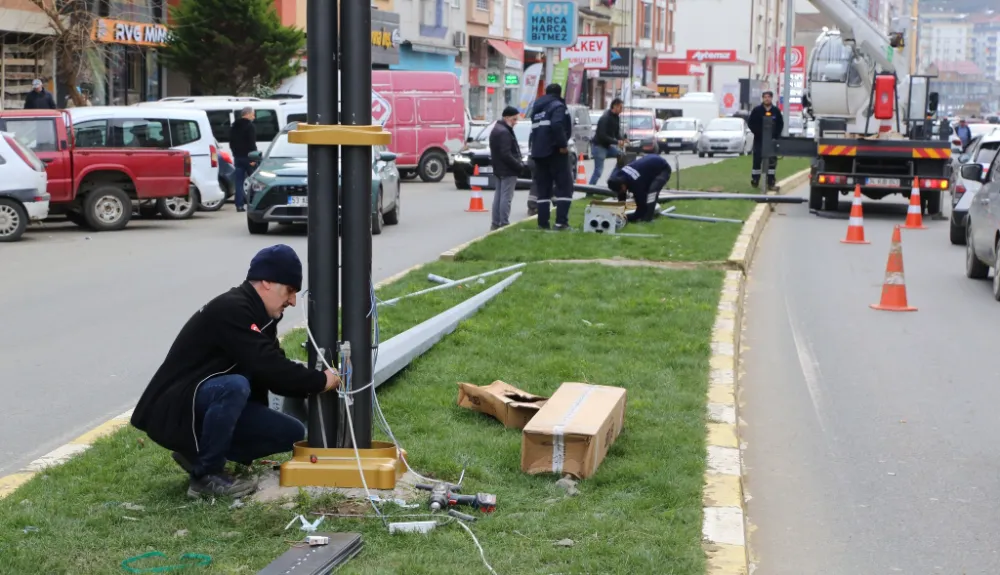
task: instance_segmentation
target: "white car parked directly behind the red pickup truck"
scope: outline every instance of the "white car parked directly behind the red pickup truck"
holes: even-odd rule
[[[70,116],[74,131],[84,125],[96,128],[97,124],[105,123],[112,145],[171,148],[191,154],[194,194],[157,200],[163,217],[185,219],[198,209],[216,211],[222,207],[226,194],[219,185],[219,151],[204,112],[166,107],[145,110],[135,106],[85,106],[73,108]]]

